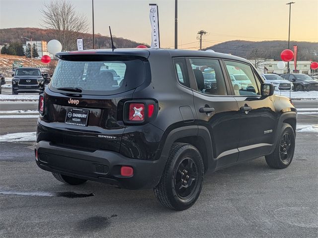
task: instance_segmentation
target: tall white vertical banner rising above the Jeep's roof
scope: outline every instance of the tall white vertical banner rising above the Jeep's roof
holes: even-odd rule
[[[160,48],[158,4],[149,4],[151,23],[151,48]]]

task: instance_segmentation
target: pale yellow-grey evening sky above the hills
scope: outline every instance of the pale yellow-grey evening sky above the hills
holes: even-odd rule
[[[40,27],[40,9],[54,0],[0,0],[0,28]],[[70,0],[91,26],[92,0]],[[318,0],[294,0],[291,41],[318,42]],[[178,48],[230,40],[288,40],[289,0],[178,0]],[[174,0],[94,0],[95,33],[151,44],[149,3],[159,5],[161,48],[174,47]],[[90,27],[89,33],[92,32]]]

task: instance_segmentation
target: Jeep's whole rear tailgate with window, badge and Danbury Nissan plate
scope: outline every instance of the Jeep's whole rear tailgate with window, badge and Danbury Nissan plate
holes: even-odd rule
[[[86,60],[87,59],[87,60]],[[145,83],[142,58],[83,55],[62,57],[45,89],[37,142],[80,150],[120,151],[123,103]],[[122,78],[113,78],[111,70]],[[77,88],[78,92],[68,91]]]

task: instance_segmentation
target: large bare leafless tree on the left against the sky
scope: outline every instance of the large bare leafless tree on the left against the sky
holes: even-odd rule
[[[54,0],[44,3],[42,25],[53,29],[56,39],[61,42],[63,51],[76,49],[76,39],[88,30],[87,18],[75,10],[69,0]]]

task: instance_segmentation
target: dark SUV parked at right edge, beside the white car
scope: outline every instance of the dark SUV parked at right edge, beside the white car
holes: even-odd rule
[[[303,73],[283,74],[282,77],[293,82],[294,91],[318,91],[318,82]]]

